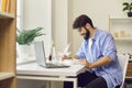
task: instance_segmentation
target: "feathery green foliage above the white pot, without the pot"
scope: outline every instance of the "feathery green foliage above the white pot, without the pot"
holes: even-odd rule
[[[43,30],[43,28],[36,28],[33,30],[18,30],[16,33],[16,42],[20,45],[30,45],[34,42],[34,38],[37,36],[43,35],[43,33],[41,33],[41,30]]]

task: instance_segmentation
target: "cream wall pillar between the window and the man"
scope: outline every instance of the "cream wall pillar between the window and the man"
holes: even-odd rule
[[[53,0],[53,40],[58,52],[72,43],[73,0]]]

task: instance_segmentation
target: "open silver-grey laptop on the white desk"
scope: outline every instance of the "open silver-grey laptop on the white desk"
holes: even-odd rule
[[[35,48],[35,56],[36,56],[36,64],[46,68],[65,68],[69,67],[69,65],[64,64],[50,64],[46,63],[46,56],[45,56],[45,48],[44,48],[44,42],[37,41],[34,42],[34,48]]]

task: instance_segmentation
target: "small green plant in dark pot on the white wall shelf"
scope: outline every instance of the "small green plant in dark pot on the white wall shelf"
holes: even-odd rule
[[[123,2],[123,11],[128,11],[128,16],[132,16],[132,2]]]

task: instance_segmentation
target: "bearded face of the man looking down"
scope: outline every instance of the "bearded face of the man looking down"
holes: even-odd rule
[[[84,36],[85,40],[89,38],[90,32],[87,28],[82,26],[82,28],[78,29],[78,32],[81,36]]]

